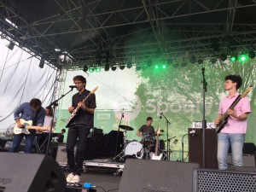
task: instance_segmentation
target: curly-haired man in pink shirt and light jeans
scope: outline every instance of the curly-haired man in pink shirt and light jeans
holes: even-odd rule
[[[219,103],[218,118],[215,119],[215,125],[220,123],[223,114],[227,112],[230,117],[224,128],[218,133],[218,169],[228,169],[227,155],[231,146],[232,160],[234,166],[243,166],[242,148],[247,131],[247,115],[251,113],[250,102],[247,97],[241,98],[232,110],[230,106],[239,96],[237,90],[241,87],[241,77],[239,75],[228,75],[225,77],[225,90],[229,91]]]

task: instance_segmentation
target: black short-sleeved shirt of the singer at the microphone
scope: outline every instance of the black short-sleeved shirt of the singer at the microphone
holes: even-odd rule
[[[78,103],[82,102],[83,99],[90,93],[89,90],[84,90],[81,94],[76,93],[72,97],[72,106],[74,108],[78,107]],[[85,101],[85,106],[87,108],[96,108],[96,96],[95,94],[91,94]],[[72,123],[70,126],[83,126],[85,128],[92,128],[94,120],[93,113],[87,113],[82,108],[79,109],[77,115],[73,118]]]

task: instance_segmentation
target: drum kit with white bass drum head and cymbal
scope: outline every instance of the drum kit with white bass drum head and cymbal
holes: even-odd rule
[[[133,131],[131,126],[119,125],[119,128],[126,131]],[[114,157],[114,160],[125,161],[127,157],[137,158],[137,159],[150,159],[150,148],[154,149],[155,139],[154,134],[144,133],[141,142],[135,139],[128,139],[126,134],[124,136],[124,149],[123,151]],[[154,150],[153,150],[154,151]]]

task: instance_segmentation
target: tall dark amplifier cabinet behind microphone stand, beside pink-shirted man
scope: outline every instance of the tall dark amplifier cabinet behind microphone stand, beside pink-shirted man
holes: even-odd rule
[[[189,133],[189,162],[199,163],[202,167],[202,129],[189,128],[188,131],[195,131],[193,134]],[[205,168],[218,169],[217,133],[213,129],[206,129],[205,133]]]

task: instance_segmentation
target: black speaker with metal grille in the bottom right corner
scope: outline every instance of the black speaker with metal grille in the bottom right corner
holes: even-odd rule
[[[193,192],[219,192],[219,191],[256,191],[256,172],[250,167],[251,172],[219,171],[197,169],[193,173]],[[247,169],[248,170],[248,169]]]

